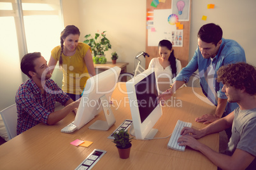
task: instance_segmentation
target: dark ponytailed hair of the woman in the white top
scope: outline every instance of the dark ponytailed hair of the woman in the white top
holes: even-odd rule
[[[164,39],[159,42],[158,47],[166,47],[167,49],[171,50],[173,48],[173,44],[170,41]],[[177,75],[177,67],[176,67],[176,58],[174,56],[174,50],[171,51],[171,54],[168,58],[168,61],[171,65],[171,72],[173,73],[173,77]]]

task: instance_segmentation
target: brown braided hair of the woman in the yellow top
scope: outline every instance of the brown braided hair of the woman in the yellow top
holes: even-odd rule
[[[68,37],[70,34],[76,35],[78,34],[80,36],[80,31],[78,29],[78,27],[76,27],[75,25],[68,25],[65,27],[64,30],[62,30],[62,32],[60,33],[60,47],[61,47],[61,51],[60,51],[60,59],[59,59],[59,66],[62,66],[63,60],[62,60],[62,53],[63,53],[63,49],[64,49],[64,39],[66,39],[66,37]]]

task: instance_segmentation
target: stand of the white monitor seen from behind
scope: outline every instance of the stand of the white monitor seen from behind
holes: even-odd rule
[[[101,106],[103,107],[103,112],[106,117],[106,121],[96,121],[94,124],[89,126],[89,129],[108,131],[113,124],[115,124],[115,116],[111,110],[110,103],[105,95],[99,98],[101,100]]]

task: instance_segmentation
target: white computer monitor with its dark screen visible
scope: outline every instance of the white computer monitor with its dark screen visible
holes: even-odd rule
[[[157,102],[157,86],[153,69],[145,70],[126,82],[132,115],[131,134],[136,139],[152,139],[158,131],[153,129],[162,115],[162,107]]]

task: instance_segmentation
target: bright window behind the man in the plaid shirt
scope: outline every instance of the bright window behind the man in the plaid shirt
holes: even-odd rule
[[[49,61],[60,44],[61,0],[0,0],[0,23],[0,108],[5,108],[15,103],[18,86],[27,79],[20,70],[22,56],[38,51]]]

